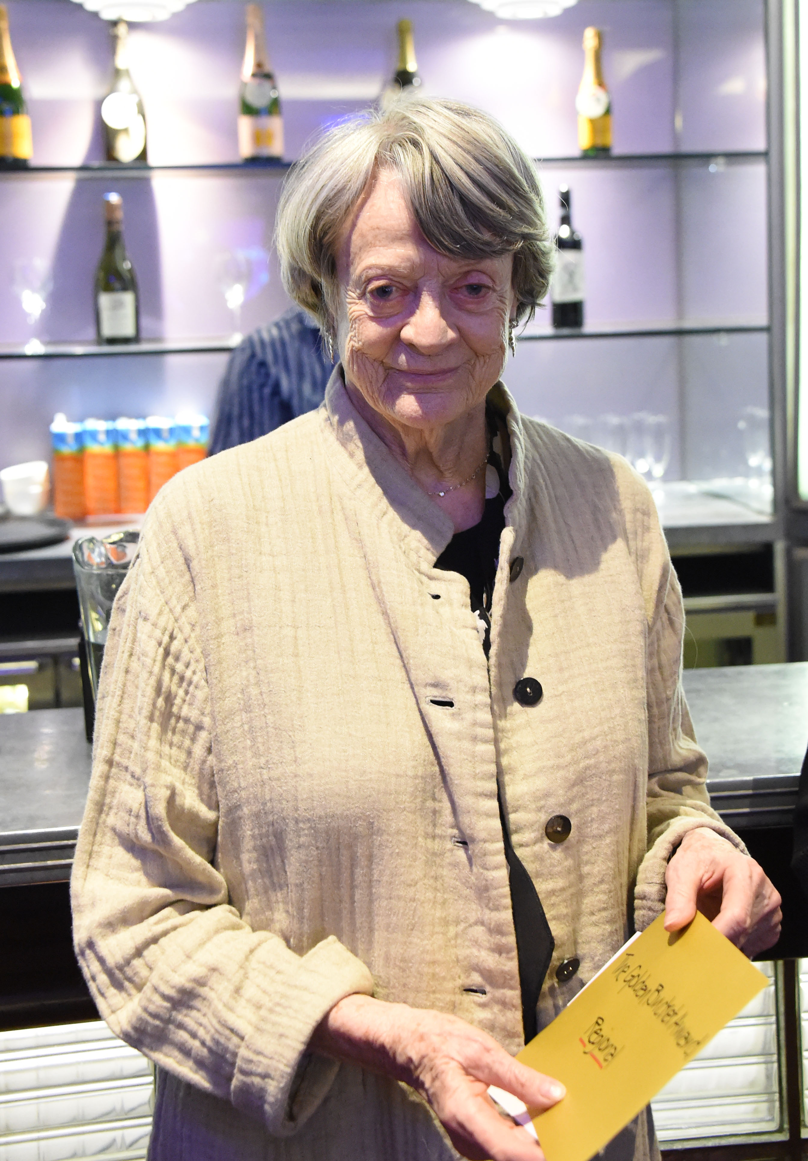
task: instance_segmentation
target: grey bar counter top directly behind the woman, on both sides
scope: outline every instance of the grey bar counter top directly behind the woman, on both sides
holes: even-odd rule
[[[730,825],[789,825],[808,744],[808,662],[685,673],[708,786]],[[0,885],[58,882],[89,780],[81,709],[0,716]]]

